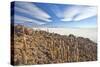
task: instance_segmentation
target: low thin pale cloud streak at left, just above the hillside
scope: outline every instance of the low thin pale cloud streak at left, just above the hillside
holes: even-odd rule
[[[33,23],[36,23],[36,24],[39,24],[39,25],[45,24],[44,22],[40,22],[40,21],[30,19],[30,18],[27,18],[27,17],[24,17],[24,16],[19,16],[19,15],[14,15],[14,21],[20,21],[22,23],[24,23],[24,22],[33,22]],[[17,22],[17,23],[20,23],[20,22]]]

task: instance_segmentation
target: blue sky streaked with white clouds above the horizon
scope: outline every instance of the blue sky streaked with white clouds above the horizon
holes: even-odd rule
[[[11,16],[14,17],[12,18],[14,23],[48,28],[97,27],[97,7],[95,6],[20,1],[13,3],[14,14]]]

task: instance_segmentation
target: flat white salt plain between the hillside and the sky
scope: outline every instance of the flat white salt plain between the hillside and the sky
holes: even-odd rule
[[[48,32],[54,32],[61,35],[73,34],[77,37],[89,38],[90,40],[97,42],[97,28],[33,28],[37,30],[44,30]]]

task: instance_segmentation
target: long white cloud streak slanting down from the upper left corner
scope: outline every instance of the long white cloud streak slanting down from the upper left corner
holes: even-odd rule
[[[35,17],[37,19],[44,20],[47,22],[51,21],[49,19],[51,17],[46,12],[44,12],[43,10],[41,10],[40,8],[38,8],[37,6],[35,6],[32,3],[16,2],[15,5],[16,5],[15,10],[17,10],[19,12],[29,14],[32,17]],[[17,7],[17,6],[19,6],[19,7]]]

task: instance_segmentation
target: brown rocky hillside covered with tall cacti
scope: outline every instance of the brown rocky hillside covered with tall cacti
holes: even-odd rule
[[[97,60],[97,43],[88,38],[33,30],[22,25],[14,26],[11,51],[13,65]]]

